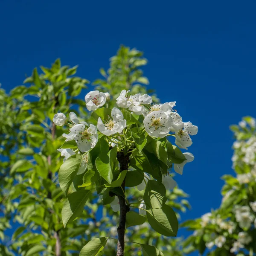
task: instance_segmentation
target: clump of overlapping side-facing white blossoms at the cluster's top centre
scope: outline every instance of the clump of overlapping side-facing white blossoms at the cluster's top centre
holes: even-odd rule
[[[149,96],[148,94],[140,95],[140,93],[128,96],[128,92],[129,91],[122,90],[119,97],[116,99],[116,105],[119,108],[128,108],[135,114],[141,115],[144,109],[143,105],[151,104],[151,96]]]

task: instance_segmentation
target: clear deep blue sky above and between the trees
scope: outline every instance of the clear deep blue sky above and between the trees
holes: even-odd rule
[[[195,218],[219,206],[220,177],[233,173],[229,125],[256,116],[255,10],[252,0],[1,0],[0,83],[9,90],[58,57],[93,81],[120,44],[142,50],[149,87],[199,128],[177,176],[191,196],[183,220]]]

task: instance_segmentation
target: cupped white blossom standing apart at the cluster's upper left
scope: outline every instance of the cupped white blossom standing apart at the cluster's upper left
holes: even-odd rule
[[[85,96],[86,108],[89,111],[96,111],[97,108],[102,107],[106,102],[105,93],[101,93],[98,90],[90,91]]]

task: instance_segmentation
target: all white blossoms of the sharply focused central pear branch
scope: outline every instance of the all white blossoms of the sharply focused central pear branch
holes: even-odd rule
[[[97,124],[88,124],[79,120],[74,112],[70,112],[69,116],[64,113],[56,113],[53,116],[53,122],[57,126],[66,125],[68,132],[62,134],[65,142],[75,141],[76,150],[70,148],[61,148],[61,156],[67,160],[74,154],[82,154],[83,164],[79,169],[79,174],[82,174],[87,166],[87,153],[96,146],[99,134],[104,134],[108,139],[110,146],[118,146],[120,144],[120,136],[127,127],[127,120],[124,118],[123,109],[130,111],[131,114],[141,115],[145,132],[151,137],[163,138],[169,135],[175,137],[175,143],[178,147],[187,149],[192,145],[191,137],[197,134],[198,127],[192,125],[191,122],[183,122],[181,116],[174,109],[176,102],[166,102],[164,104],[153,104],[151,96],[148,94],[141,95],[137,93],[130,95],[130,91],[122,90],[116,99],[116,106],[111,110],[111,114],[107,118],[99,117]],[[98,90],[90,91],[84,98],[88,111],[96,111],[97,109],[108,104],[110,100],[109,93],[102,93]],[[183,153],[186,158],[183,163],[173,164],[176,173],[182,175],[183,168],[186,163],[192,162],[194,156],[191,153]],[[137,186],[138,190],[144,190],[150,175],[144,172],[144,179]],[[162,183],[167,190],[173,189],[177,183],[172,178],[172,175],[162,175]],[[110,204],[113,211],[119,209],[118,200],[114,198]]]

